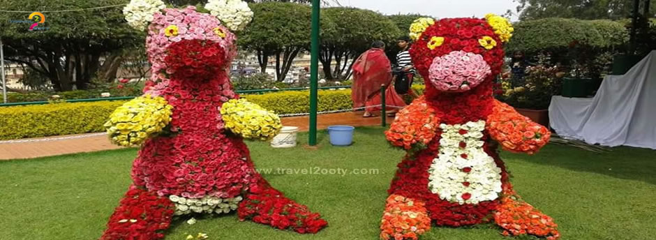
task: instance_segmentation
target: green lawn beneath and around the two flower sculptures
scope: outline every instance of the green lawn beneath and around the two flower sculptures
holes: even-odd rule
[[[306,133],[299,134],[301,144]],[[329,227],[315,235],[239,222],[234,214],[178,220],[167,239],[204,232],[210,239],[377,239],[387,187],[403,151],[387,147],[382,128],[357,128],[352,147],[271,149],[251,142],[265,177],[319,211]],[[136,149],[0,162],[0,239],[98,239],[124,194]],[[628,147],[591,153],[549,145],[536,156],[503,153],[516,190],[555,218],[562,239],[653,239],[656,151]],[[372,170],[369,174],[295,174],[293,170]],[[377,172],[376,172],[377,171]],[[434,227],[423,239],[509,239],[494,225]],[[526,237],[515,239],[530,239]]]

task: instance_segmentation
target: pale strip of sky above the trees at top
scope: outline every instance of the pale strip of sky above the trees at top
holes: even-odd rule
[[[419,13],[433,17],[484,17],[487,13],[502,15],[515,10],[513,0],[338,0],[342,6],[377,10],[385,14]],[[330,1],[329,1],[330,2]],[[513,16],[512,20],[516,20]]]

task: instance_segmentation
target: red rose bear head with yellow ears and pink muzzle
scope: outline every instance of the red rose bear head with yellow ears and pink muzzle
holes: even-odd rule
[[[463,92],[493,80],[501,71],[503,46],[512,26],[503,17],[419,19],[410,27],[412,61],[426,91]]]

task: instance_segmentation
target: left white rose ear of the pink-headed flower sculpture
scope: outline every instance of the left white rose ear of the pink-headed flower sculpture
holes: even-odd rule
[[[132,0],[123,8],[128,24],[133,28],[144,31],[153,21],[154,14],[166,8],[161,0]]]

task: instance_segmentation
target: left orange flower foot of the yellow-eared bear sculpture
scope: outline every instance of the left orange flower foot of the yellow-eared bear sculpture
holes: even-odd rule
[[[380,221],[380,239],[417,240],[431,229],[424,202],[402,195],[389,195]]]

